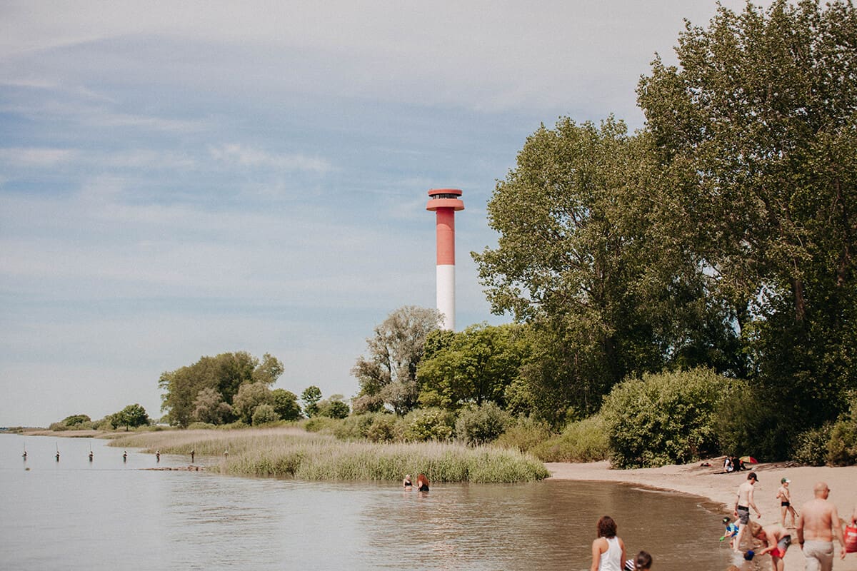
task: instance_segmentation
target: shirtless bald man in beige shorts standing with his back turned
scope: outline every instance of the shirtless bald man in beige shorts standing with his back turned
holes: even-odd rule
[[[818,482],[812,493],[815,497],[803,504],[798,515],[798,544],[806,557],[806,571],[830,571],[833,568],[834,536],[842,546],[840,559],[845,559],[842,524],[836,506],[827,501],[830,488],[824,482]]]

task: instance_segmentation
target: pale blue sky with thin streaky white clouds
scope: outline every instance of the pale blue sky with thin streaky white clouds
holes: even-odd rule
[[[640,75],[715,10],[3,0],[0,425],[158,419],[162,372],[233,351],[355,396],[375,325],[434,306],[430,188],[463,191],[458,330],[508,322],[470,258],[496,181],[560,116],[643,127]]]

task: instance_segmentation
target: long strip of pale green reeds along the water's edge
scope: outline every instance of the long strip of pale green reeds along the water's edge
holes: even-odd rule
[[[213,456],[226,473],[307,480],[398,481],[425,473],[435,482],[511,483],[548,477],[541,462],[514,450],[452,443],[355,443],[294,428],[164,431],[119,437],[111,446]],[[223,459],[224,451],[228,459]]]

